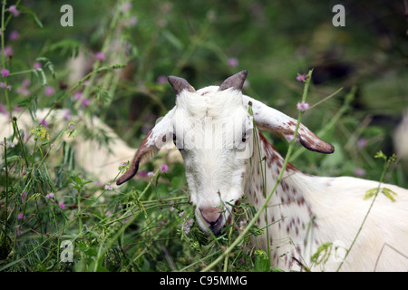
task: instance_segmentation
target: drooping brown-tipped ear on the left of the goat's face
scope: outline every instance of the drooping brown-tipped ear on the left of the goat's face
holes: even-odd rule
[[[139,163],[145,157],[151,158],[151,156],[160,148],[172,140],[172,116],[174,109],[169,111],[166,116],[164,116],[156,126],[146,135],[146,137],[141,141],[141,146],[137,150],[133,160],[131,160],[131,166],[129,169],[123,173],[123,175],[116,180],[117,185],[131,179],[139,169]]]

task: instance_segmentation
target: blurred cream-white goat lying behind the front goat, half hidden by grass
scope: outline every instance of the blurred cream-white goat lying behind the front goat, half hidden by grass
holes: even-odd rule
[[[12,115],[16,117],[19,130],[24,133],[29,133],[34,130],[38,124],[44,120],[49,108],[39,109],[35,112],[33,119],[29,111],[14,111]],[[83,126],[76,126],[78,133],[74,138],[66,137],[64,134],[63,140],[73,147],[75,164],[78,168],[83,169],[89,176],[89,179],[98,181],[101,184],[110,183],[115,175],[119,172],[118,167],[121,160],[131,158],[135,148],[131,148],[124,140],[116,134],[113,129],[104,123],[100,118],[93,116],[92,118],[84,116],[70,116],[63,109],[56,109],[47,117],[47,130],[59,134],[64,131],[69,122],[73,121],[77,125],[84,124],[86,131],[82,131]],[[101,144],[98,138],[86,136],[89,132],[94,132],[96,135],[103,135],[109,138],[109,144]],[[0,141],[9,138],[13,135],[13,125],[10,117],[6,113],[0,113]],[[103,137],[104,138],[104,137]],[[99,138],[101,139],[101,138]],[[58,142],[54,144],[58,148]],[[112,148],[119,153],[114,154]],[[168,148],[169,149],[169,148]],[[178,162],[180,159],[173,152],[177,150],[165,150],[161,152],[162,159],[170,160],[171,163]],[[178,153],[178,152],[177,152]],[[0,157],[3,150],[0,151]]]

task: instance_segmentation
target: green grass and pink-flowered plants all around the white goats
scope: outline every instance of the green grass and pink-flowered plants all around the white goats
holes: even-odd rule
[[[233,9],[200,2],[200,9],[185,2],[138,1],[129,7],[126,1],[104,1],[96,13],[92,5],[73,1],[73,27],[59,25],[63,4],[58,1],[1,2],[1,69],[9,75],[0,78],[5,86],[0,88],[0,113],[13,130],[5,137],[2,133],[0,140],[0,271],[270,270],[265,253],[248,246],[252,235],[267,229],[254,225],[258,213],[245,199],[233,207],[236,221],[221,236],[208,237],[194,221],[179,162],[156,156],[141,169],[153,172],[150,176],[139,174],[115,188],[115,178],[127,166],[118,164],[112,180],[98,184],[79,166],[66,140],[93,139],[109,147],[111,140],[103,132],[82,130],[87,125],[81,119],[62,126],[33,123],[22,130],[20,117],[24,112],[35,117],[43,108],[49,117],[60,108],[72,116],[97,115],[137,146],[156,118],[174,105],[162,76],[180,75],[199,88],[241,68],[249,71],[245,93],[294,115],[304,90],[296,73],[313,66],[317,80],[322,63],[316,59],[322,51],[316,47],[330,52],[330,39],[350,52],[336,61],[358,60],[358,72],[323,84],[310,82],[307,100],[316,106],[311,105],[302,120],[335,145],[335,154],[318,155],[296,143],[287,147],[285,141],[267,138],[308,173],[355,175],[360,169],[364,178],[408,186],[403,162],[383,176],[383,164],[374,158],[378,150],[389,156],[393,152],[390,121],[374,122],[378,111],[382,120],[394,123],[406,103],[401,50],[385,52],[376,43],[379,38],[365,34],[367,27],[355,18],[344,29],[325,27],[331,9],[328,20],[314,12],[325,11],[324,4],[316,3],[314,11],[303,6],[302,14],[290,1],[266,9],[261,2],[236,2]],[[16,5],[18,16],[10,5]],[[288,14],[295,14],[296,24],[287,22]],[[296,26],[299,23],[306,31]],[[322,46],[316,46],[317,31]],[[12,32],[19,34],[14,40]],[[76,76],[66,63],[83,52],[85,60],[93,62]],[[96,53],[104,58],[96,58]],[[384,85],[390,75],[392,88]],[[339,87],[345,89],[325,99]],[[382,90],[373,89],[378,87]],[[393,102],[385,106],[381,101],[387,92]],[[358,146],[359,140],[364,146]],[[163,162],[169,169],[160,170]],[[248,222],[239,223],[239,218]]]

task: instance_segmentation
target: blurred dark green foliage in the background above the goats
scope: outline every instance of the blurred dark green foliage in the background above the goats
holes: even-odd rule
[[[64,4],[73,6],[73,27],[60,24]],[[345,27],[332,24],[332,8],[338,4],[345,6]],[[97,52],[106,54],[106,63],[126,64],[116,71],[120,78],[94,82],[112,95],[103,102],[97,94],[90,96],[95,102],[87,110],[101,115],[133,147],[174,105],[164,76],[184,77],[199,89],[246,69],[246,94],[296,117],[303,92],[296,75],[314,68],[307,102],[343,91],[307,111],[304,124],[319,133],[342,106],[345,111],[319,135],[335,145],[335,154],[305,152],[293,161],[296,167],[334,176],[361,175],[355,170],[364,169],[364,178],[379,179],[382,161],[374,160],[375,152],[394,152],[393,130],[408,108],[408,7],[403,0],[35,0],[21,5],[29,10],[6,32],[7,37],[14,30],[20,35],[5,43],[14,50],[11,69],[27,69],[46,57],[56,72],[49,84],[64,91],[92,70]],[[113,21],[115,15],[119,19]],[[81,52],[73,77],[67,65]],[[345,105],[352,88],[355,98]],[[14,102],[22,98],[15,96]],[[55,101],[44,100],[44,106]],[[66,100],[60,106],[72,104]],[[274,142],[284,153],[287,144]],[[386,181],[407,187],[406,164],[395,167]]]

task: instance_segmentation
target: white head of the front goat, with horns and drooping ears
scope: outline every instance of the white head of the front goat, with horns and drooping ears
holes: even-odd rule
[[[117,184],[136,174],[144,156],[173,140],[185,163],[190,201],[196,205],[199,226],[218,234],[230,217],[231,205],[244,193],[244,176],[253,148],[253,120],[257,128],[277,134],[293,134],[296,128],[296,120],[243,95],[246,78],[247,71],[242,71],[220,86],[196,91],[186,80],[170,76],[177,94],[176,106],[147,134],[130,169]],[[250,102],[253,118],[248,112]],[[303,125],[298,137],[309,150],[334,151]]]

